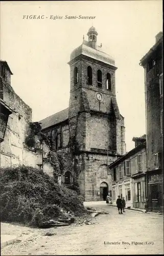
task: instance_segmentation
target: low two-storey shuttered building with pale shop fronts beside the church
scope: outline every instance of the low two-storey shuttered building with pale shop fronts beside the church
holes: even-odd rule
[[[135,147],[109,165],[112,180],[112,203],[118,196],[125,198],[126,207],[145,208],[146,139],[133,138]]]

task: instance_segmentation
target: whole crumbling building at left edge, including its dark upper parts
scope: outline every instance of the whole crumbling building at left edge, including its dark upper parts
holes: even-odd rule
[[[1,167],[42,165],[42,154],[29,148],[26,137],[32,122],[31,108],[14,92],[12,72],[6,61],[0,62],[0,154]],[[40,146],[39,146],[40,147]]]

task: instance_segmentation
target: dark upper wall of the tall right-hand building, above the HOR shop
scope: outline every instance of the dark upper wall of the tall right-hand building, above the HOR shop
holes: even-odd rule
[[[162,52],[158,53],[162,55]],[[160,131],[160,111],[163,109],[163,96],[159,93],[159,75],[163,73],[162,58],[147,70],[147,136],[148,170],[154,169],[154,154],[163,152],[163,134]],[[162,154],[163,155],[163,154]],[[163,161],[161,161],[163,163]]]

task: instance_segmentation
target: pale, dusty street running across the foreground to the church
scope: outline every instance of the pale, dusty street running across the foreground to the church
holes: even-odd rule
[[[123,215],[119,215],[116,207],[107,206],[105,202],[87,202],[86,205],[109,214],[97,216],[93,225],[72,225],[50,229],[20,226],[15,233],[19,232],[19,237],[25,236],[25,238],[20,238],[22,241],[19,243],[2,248],[1,254],[163,254],[163,216],[127,209]],[[23,230],[22,236],[20,233]],[[54,235],[45,236],[47,232]],[[111,242],[115,244],[109,244]]]

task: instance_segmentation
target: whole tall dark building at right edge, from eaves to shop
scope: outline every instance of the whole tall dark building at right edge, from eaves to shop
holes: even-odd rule
[[[163,211],[163,34],[140,60],[145,70],[149,210]]]

